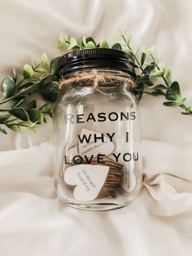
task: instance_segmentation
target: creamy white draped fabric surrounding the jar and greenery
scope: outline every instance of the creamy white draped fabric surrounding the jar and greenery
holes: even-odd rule
[[[61,32],[155,46],[192,105],[190,0],[0,0],[0,77],[43,51],[61,55]],[[51,122],[0,135],[0,256],[180,256],[192,249],[192,118],[164,99],[142,99],[144,186],[129,207],[72,210],[55,196]]]

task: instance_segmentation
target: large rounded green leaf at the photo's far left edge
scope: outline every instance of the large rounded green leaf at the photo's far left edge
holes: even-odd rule
[[[6,77],[2,80],[1,91],[2,99],[8,99],[15,94],[15,81],[11,77]]]

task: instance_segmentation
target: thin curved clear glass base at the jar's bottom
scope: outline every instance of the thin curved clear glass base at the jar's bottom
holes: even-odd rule
[[[116,204],[92,204],[92,205],[82,205],[82,204],[72,204],[66,203],[66,205],[75,208],[77,210],[89,210],[89,211],[108,211],[108,210],[118,210],[124,208],[127,205],[116,205]]]

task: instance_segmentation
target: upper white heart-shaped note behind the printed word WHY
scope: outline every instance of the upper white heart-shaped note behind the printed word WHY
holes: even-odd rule
[[[115,134],[114,134],[115,135]],[[108,137],[107,137],[108,136]],[[81,135],[79,135],[79,153],[81,156],[105,154],[110,155],[113,152],[115,145],[111,142],[109,135],[103,135],[94,130],[82,129]]]

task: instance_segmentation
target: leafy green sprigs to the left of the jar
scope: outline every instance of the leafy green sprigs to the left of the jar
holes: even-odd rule
[[[55,77],[57,62],[55,58],[50,62],[50,70],[47,68],[47,55],[41,55],[40,63],[35,65],[25,64],[22,72],[22,78],[18,81],[18,76],[13,68],[12,77],[6,77],[2,80],[1,91],[2,100],[0,105],[12,102],[9,108],[1,108],[0,113],[0,131],[7,134],[7,128],[17,131],[21,127],[28,127],[35,131],[36,124],[46,122],[46,115],[51,117],[51,104],[49,102],[37,108],[37,100],[28,102],[30,95],[41,94],[46,101],[55,101],[59,90],[57,78]]]

